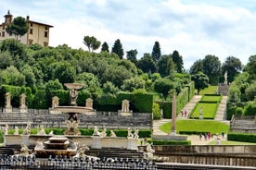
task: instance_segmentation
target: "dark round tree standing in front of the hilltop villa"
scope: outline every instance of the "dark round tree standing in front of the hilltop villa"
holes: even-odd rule
[[[18,37],[25,35],[28,32],[29,26],[26,18],[17,17],[13,19],[13,22],[8,24],[6,27],[6,32],[11,36],[15,35],[16,40]]]

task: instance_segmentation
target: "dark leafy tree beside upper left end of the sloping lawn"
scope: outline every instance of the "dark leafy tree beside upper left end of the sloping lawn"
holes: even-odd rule
[[[191,79],[195,82],[195,88],[198,90],[198,94],[200,90],[209,86],[209,78],[202,72],[192,75]]]

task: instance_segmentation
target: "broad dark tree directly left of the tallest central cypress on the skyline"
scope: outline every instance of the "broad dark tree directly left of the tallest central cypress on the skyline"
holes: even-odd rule
[[[147,53],[138,61],[137,67],[145,73],[155,73],[157,71],[156,63],[152,56]]]

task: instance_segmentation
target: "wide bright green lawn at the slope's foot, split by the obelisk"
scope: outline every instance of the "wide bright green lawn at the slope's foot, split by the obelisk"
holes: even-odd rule
[[[229,126],[214,120],[177,120],[176,131],[197,131],[197,132],[211,132],[212,134],[227,134]],[[170,133],[171,122],[160,126],[160,130],[165,133]]]

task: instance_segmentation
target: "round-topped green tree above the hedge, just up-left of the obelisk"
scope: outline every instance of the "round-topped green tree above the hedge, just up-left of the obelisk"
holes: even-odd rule
[[[165,99],[173,88],[174,84],[170,79],[157,79],[154,82],[154,90],[161,93]]]

